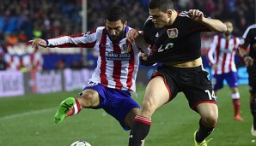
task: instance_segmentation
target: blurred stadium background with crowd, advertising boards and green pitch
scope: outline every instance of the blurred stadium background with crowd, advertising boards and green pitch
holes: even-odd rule
[[[103,111],[82,112],[85,118],[79,116],[80,118],[74,118],[63,126],[56,126],[53,123],[52,116],[58,103],[67,96],[76,96],[90,78],[96,63],[94,50],[55,48],[36,52],[27,41],[87,32],[97,26],[104,26],[105,11],[113,5],[125,7],[129,26],[142,29],[143,22],[149,15],[147,3],[148,0],[1,0],[0,145],[63,146],[83,137],[88,138],[88,142],[93,142],[96,146],[126,145],[124,143],[127,143],[127,138],[124,135],[128,137],[128,132],[118,128],[118,124],[109,116],[105,116],[106,113]],[[174,3],[176,9],[200,9],[204,15],[211,18],[232,20],[235,24],[234,34],[238,37],[241,37],[247,26],[256,22],[256,0],[174,0]],[[213,35],[214,33],[202,34],[204,67],[209,72],[210,67],[205,53],[209,49]],[[229,88],[225,87],[220,95],[223,96],[223,100],[219,99],[219,104],[222,105],[220,126],[216,130],[219,133],[216,132],[213,136],[217,142],[212,142],[212,145],[252,144],[249,133],[252,118],[248,109],[247,71],[239,57],[236,57],[235,61],[241,84],[241,115],[245,121],[233,121],[230,92]],[[148,81],[145,74],[149,77],[153,71],[154,67],[140,67],[137,75],[138,102],[141,102],[143,97],[143,85]],[[166,126],[168,128],[161,131],[157,131],[157,128],[165,126],[166,123],[155,118],[159,123],[154,125],[155,129],[152,131],[160,136],[150,134],[152,137],[149,137],[149,145],[191,145],[192,139],[187,137],[192,133],[187,132],[194,131],[197,125],[191,126],[187,121],[196,120],[198,117],[190,113],[184,99],[179,100],[181,101],[174,101],[172,106],[167,106],[172,108],[162,109],[163,114],[156,114],[155,117],[162,117],[169,116],[170,113],[174,118],[169,117],[170,122]],[[175,106],[175,102],[179,106]],[[182,107],[187,110],[183,111]],[[89,120],[86,118],[88,116]],[[180,123],[182,127],[179,127]],[[106,124],[110,126],[103,126]],[[108,130],[104,131],[106,127]],[[70,128],[74,130],[69,131]],[[56,131],[64,136],[56,134]],[[229,142],[226,143],[225,139]]]

